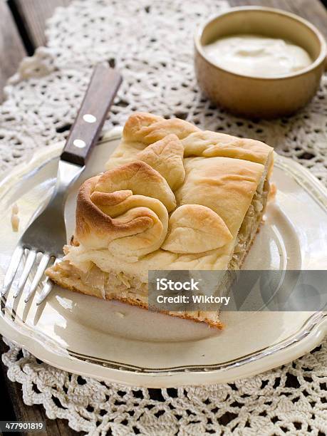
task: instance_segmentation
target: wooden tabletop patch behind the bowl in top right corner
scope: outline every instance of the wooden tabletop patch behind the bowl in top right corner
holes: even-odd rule
[[[327,11],[319,0],[229,0],[231,6],[266,6],[293,12],[311,21],[327,38]]]

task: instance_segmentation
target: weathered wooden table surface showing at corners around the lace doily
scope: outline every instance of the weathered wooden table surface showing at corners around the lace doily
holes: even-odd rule
[[[213,0],[214,1],[214,0]],[[71,0],[0,0],[0,103],[3,87],[14,74],[21,58],[31,56],[46,43],[45,21],[56,6],[67,6]],[[294,12],[315,24],[327,38],[327,0],[229,0],[232,6],[260,5]],[[0,341],[0,353],[6,345]],[[40,436],[76,435],[63,420],[49,420],[41,405],[26,406],[21,385],[6,377],[6,367],[0,364],[0,420],[44,421],[46,430]],[[0,432],[1,434],[1,432]],[[25,433],[30,435],[31,433]]]

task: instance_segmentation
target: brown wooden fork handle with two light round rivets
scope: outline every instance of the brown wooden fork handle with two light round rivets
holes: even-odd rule
[[[120,73],[110,68],[108,63],[99,63],[95,67],[61,160],[85,165],[121,82]]]

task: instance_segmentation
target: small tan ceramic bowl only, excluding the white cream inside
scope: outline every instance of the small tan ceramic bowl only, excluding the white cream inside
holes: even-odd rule
[[[269,78],[227,71],[210,61],[204,46],[237,33],[283,38],[304,48],[313,61],[301,71]],[[305,19],[279,9],[229,9],[198,29],[194,45],[195,73],[203,93],[217,105],[249,118],[276,118],[302,108],[318,90],[326,66],[326,41],[321,32]]]

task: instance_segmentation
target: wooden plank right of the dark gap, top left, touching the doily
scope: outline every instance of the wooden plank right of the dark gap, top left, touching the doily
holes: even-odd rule
[[[46,43],[46,20],[57,6],[68,6],[71,0],[13,0],[34,48]]]

